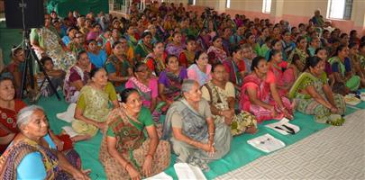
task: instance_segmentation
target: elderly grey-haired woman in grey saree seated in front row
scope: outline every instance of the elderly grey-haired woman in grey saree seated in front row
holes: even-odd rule
[[[195,80],[184,80],[181,90],[183,98],[172,103],[167,112],[163,139],[170,140],[179,162],[208,170],[208,162],[230,150],[231,130],[224,123],[214,127],[209,103]]]

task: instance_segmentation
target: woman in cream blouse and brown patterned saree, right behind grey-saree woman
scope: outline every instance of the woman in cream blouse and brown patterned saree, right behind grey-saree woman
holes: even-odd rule
[[[210,110],[214,124],[225,122],[231,127],[232,135],[243,132],[255,133],[257,130],[256,118],[250,112],[234,111],[234,85],[224,80],[226,74],[223,64],[212,67],[212,80],[202,86],[202,96],[210,103]]]

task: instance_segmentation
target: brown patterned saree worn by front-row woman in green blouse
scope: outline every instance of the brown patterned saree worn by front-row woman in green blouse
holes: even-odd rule
[[[133,126],[129,120],[118,118],[109,125],[114,131],[118,152],[141,174],[141,168],[150,148],[150,139],[145,139],[143,131]],[[152,175],[159,174],[169,166],[170,156],[169,142],[160,140],[153,155]],[[105,174],[108,179],[130,179],[130,175],[123,166],[109,154],[106,136],[102,140],[99,159],[105,167]]]

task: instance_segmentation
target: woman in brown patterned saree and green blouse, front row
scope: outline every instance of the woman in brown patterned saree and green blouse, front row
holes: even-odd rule
[[[121,107],[108,116],[108,130],[100,148],[99,159],[107,178],[141,179],[159,174],[169,166],[169,142],[159,140],[151,112],[142,106],[136,89],[123,90],[121,100]]]

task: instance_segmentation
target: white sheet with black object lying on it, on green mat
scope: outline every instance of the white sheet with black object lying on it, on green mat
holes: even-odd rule
[[[297,125],[289,123],[287,118],[283,118],[281,121],[270,123],[266,125],[269,129],[275,130],[280,134],[297,134],[300,128]]]

